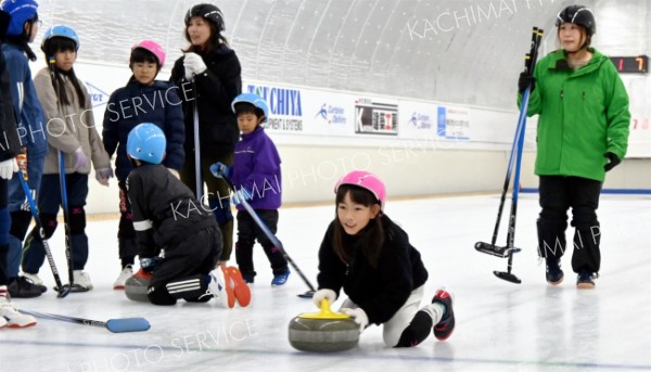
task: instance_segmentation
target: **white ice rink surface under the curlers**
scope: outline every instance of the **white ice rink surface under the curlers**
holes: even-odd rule
[[[39,298],[15,299],[23,309],[105,321],[144,317],[148,332],[107,330],[40,319],[29,329],[0,330],[0,370],[8,371],[647,371],[651,370],[651,197],[603,195],[602,270],[593,291],[578,291],[570,255],[565,280],[545,282],[536,254],[537,195],[521,194],[513,273],[522,284],[497,279],[506,259],[474,251],[489,241],[498,195],[391,201],[386,214],[403,226],[430,272],[425,297],[438,286],[455,295],[457,328],[447,342],[433,335],[409,349],[382,343],[371,326],[359,346],[337,354],[307,354],[288,342],[288,324],[316,311],[296,295],[307,285],[294,272],[271,287],[271,270],[259,246],[258,275],[247,308],[216,303],[155,307],[112,290],[119,272],[117,219],[88,223],[87,271],[94,290],[58,299],[46,264],[40,277],[50,288]],[[334,197],[333,197],[334,200]],[[508,214],[508,208],[506,209]],[[283,208],[279,239],[316,285],[317,251],[333,206]],[[506,219],[506,217],[503,218]],[[567,239],[571,242],[572,232]],[[506,228],[498,240],[506,241]],[[50,241],[63,278],[63,229]],[[234,264],[234,256],[232,262]],[[339,305],[341,303],[337,300]]]

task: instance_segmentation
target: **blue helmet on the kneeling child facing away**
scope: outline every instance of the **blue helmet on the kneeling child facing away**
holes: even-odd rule
[[[137,125],[127,138],[127,154],[141,162],[161,164],[166,146],[167,140],[163,129],[151,123]]]

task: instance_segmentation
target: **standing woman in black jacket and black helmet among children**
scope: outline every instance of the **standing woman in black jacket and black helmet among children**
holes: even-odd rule
[[[224,15],[213,4],[197,4],[186,14],[186,39],[190,47],[178,59],[170,81],[182,91],[186,123],[186,163],[180,176],[190,190],[197,192],[196,162],[200,156],[200,194],[203,183],[207,194],[196,195],[205,204],[207,198],[221,230],[224,249],[219,264],[230,258],[233,241],[233,216],[230,211],[228,184],[210,176],[210,164],[221,162],[230,166],[235,143],[240,138],[238,121],[230,108],[233,99],[242,91],[240,60],[228,47]],[[199,116],[199,152],[194,143],[194,115]]]

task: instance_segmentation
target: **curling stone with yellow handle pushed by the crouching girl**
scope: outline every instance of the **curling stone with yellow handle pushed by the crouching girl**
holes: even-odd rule
[[[303,351],[343,351],[359,342],[359,324],[341,312],[330,309],[328,299],[321,311],[302,313],[290,321],[290,344]]]

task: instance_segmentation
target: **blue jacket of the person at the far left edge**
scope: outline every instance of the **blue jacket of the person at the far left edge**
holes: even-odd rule
[[[43,157],[48,153],[48,129],[27,57],[13,43],[3,43],[2,54],[9,72],[14,113],[20,119],[17,130],[21,146],[27,147],[28,157]]]

